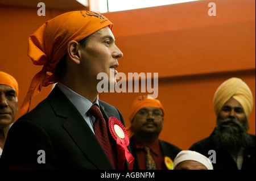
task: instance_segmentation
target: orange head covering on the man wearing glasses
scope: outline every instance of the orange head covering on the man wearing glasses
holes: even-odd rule
[[[129,121],[133,121],[133,117],[135,114],[141,110],[143,107],[155,107],[160,108],[163,111],[164,115],[164,108],[161,102],[158,99],[154,99],[151,96],[148,95],[140,95],[138,96],[131,106],[130,115],[129,115]],[[133,131],[131,130],[131,125],[127,128],[127,132],[129,134],[129,137],[133,136]]]

